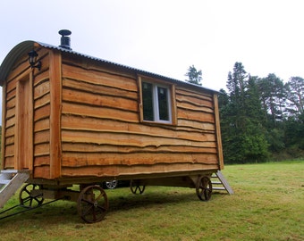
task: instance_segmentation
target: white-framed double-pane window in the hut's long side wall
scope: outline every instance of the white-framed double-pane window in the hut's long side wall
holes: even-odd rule
[[[143,120],[172,123],[170,88],[146,81],[141,87]]]

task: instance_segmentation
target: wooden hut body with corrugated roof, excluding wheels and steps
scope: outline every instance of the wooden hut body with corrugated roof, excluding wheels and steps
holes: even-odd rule
[[[61,186],[224,168],[217,92],[74,52],[69,41],[25,41],[4,59],[2,170]]]

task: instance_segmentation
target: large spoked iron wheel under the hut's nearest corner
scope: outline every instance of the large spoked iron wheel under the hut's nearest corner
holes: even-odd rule
[[[103,220],[108,209],[106,192],[99,186],[89,186],[80,192],[78,213],[85,222],[94,223]]]

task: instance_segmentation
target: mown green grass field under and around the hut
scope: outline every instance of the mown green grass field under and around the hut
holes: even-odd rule
[[[207,203],[194,189],[106,190],[106,219],[86,224],[58,201],[0,220],[0,240],[304,240],[304,162],[226,166],[235,192]],[[5,206],[18,204],[17,195]]]

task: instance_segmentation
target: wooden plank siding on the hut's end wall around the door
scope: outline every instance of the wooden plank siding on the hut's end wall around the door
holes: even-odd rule
[[[33,112],[30,125],[32,127],[32,135],[30,138],[33,140],[30,141],[33,146],[27,147],[27,150],[24,152],[29,152],[31,149],[33,151],[33,160],[28,160],[30,163],[30,170],[35,171],[35,166],[40,166],[42,162],[39,162],[39,159],[44,157],[45,161],[43,165],[48,165],[49,162],[49,106],[50,106],[50,88],[49,88],[49,71],[48,71],[48,62],[49,62],[49,51],[44,48],[37,49],[37,52],[40,56],[39,61],[43,62],[43,68],[41,71],[34,70],[30,71],[30,66],[28,62],[28,56],[25,54],[21,59],[15,63],[13,70],[10,72],[8,78],[5,81],[4,85],[4,105],[3,105],[3,140],[4,140],[4,151],[3,151],[3,168],[4,169],[13,169],[20,168],[22,163],[16,161],[18,153],[20,152],[20,146],[16,147],[16,126],[18,121],[16,120],[16,88],[18,86],[18,81],[25,78],[31,78],[30,75],[33,75],[33,82],[30,84],[32,88],[32,102],[33,102]],[[23,81],[23,80],[22,80]],[[28,90],[27,90],[28,91]],[[21,101],[21,100],[20,100]],[[20,103],[20,105],[23,103]],[[27,108],[25,106],[25,108]],[[21,119],[21,118],[19,118]],[[23,121],[23,120],[19,120]],[[27,124],[29,125],[29,124]],[[29,128],[29,126],[28,126]],[[22,145],[22,143],[21,143]],[[24,153],[23,152],[23,153]],[[22,154],[22,153],[21,153]],[[17,162],[17,163],[16,163]],[[34,172],[35,173],[35,172]],[[49,178],[47,172],[43,171],[44,175],[41,175],[41,178]],[[35,174],[34,174],[35,176]]]

